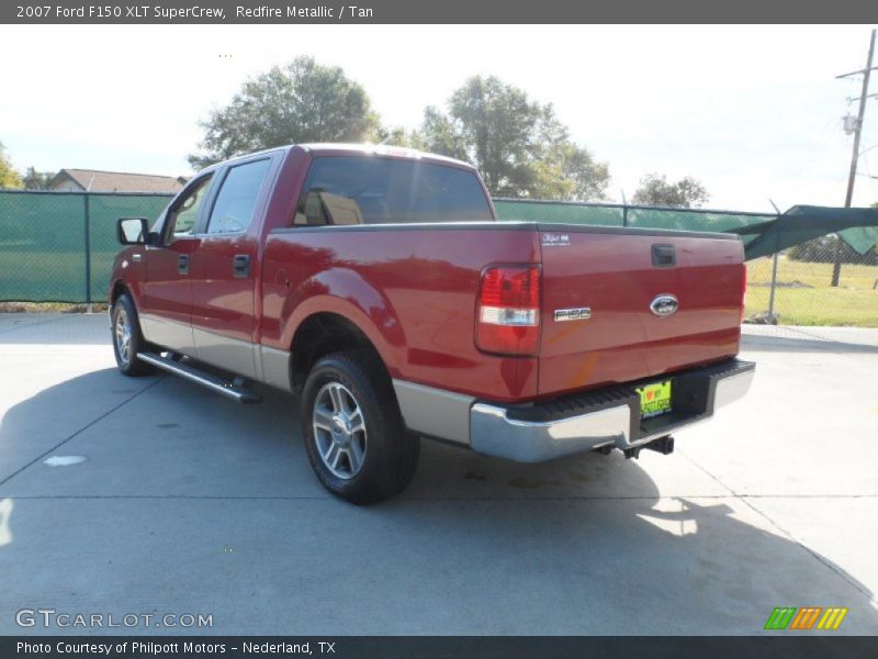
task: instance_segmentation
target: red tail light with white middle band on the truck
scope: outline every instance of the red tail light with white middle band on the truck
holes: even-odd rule
[[[540,344],[540,267],[497,266],[482,273],[475,345],[487,353],[536,355]]]

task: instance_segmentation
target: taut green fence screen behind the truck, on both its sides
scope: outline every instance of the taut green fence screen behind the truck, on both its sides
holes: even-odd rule
[[[117,217],[158,216],[167,194],[0,191],[0,301],[102,302]],[[729,232],[773,214],[495,199],[500,221]],[[856,231],[856,230],[848,230]],[[757,235],[744,235],[744,243]]]

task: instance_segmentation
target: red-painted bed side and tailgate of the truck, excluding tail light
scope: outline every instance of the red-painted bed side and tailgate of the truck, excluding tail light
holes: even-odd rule
[[[653,245],[673,247],[674,265],[653,265]],[[735,355],[742,261],[741,242],[725,234],[491,222],[281,228],[264,249],[261,340],[289,346],[299,319],[328,305],[376,327],[369,338],[393,378],[488,401],[549,399]],[[475,346],[492,264],[542,268],[536,356]],[[662,294],[678,299],[675,314],[651,312]],[[585,308],[588,319],[554,319]]]

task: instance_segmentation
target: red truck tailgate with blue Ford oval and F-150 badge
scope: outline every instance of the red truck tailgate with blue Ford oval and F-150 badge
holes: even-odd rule
[[[745,268],[736,236],[539,230],[540,395],[640,380],[738,353]],[[667,295],[676,311],[658,315],[673,301],[658,301],[655,311],[651,305]]]

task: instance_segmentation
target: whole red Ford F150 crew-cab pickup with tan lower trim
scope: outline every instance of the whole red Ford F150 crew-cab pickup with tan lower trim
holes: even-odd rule
[[[477,172],[440,156],[269,149],[119,237],[122,372],[299,394],[317,477],[356,503],[406,487],[420,437],[525,462],[667,454],[754,373],[736,236],[498,223]]]

